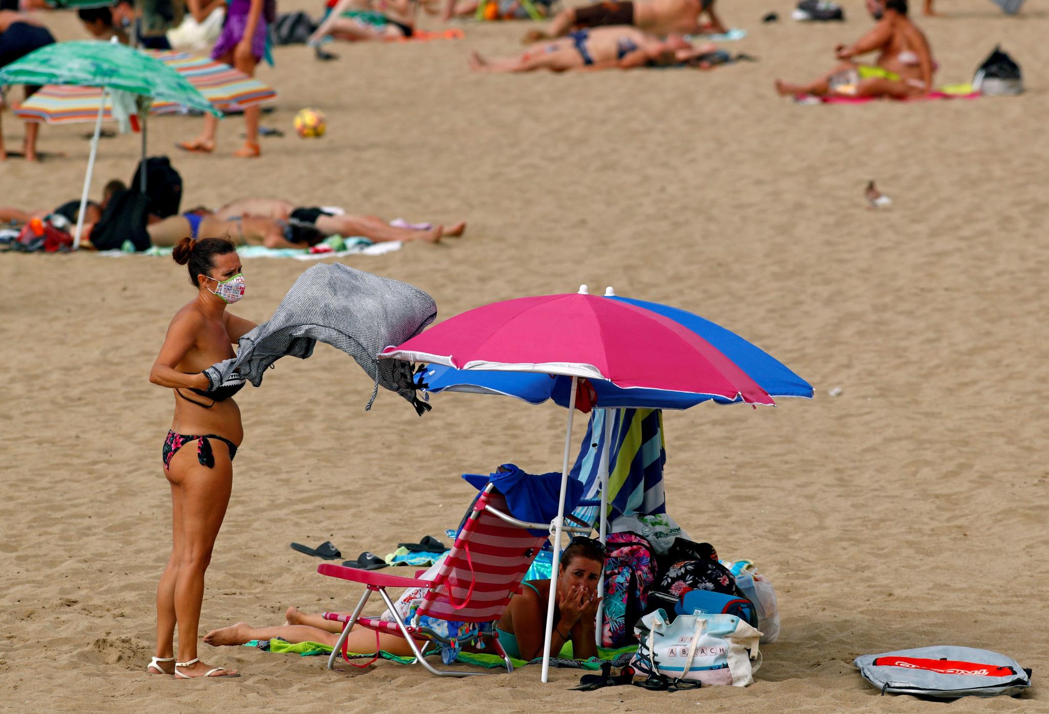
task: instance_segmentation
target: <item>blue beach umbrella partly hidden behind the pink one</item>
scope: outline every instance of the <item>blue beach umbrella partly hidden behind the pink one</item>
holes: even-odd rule
[[[644,300],[615,296],[600,299],[631,305],[675,321],[720,350],[772,397],[812,398],[813,390],[808,382],[768,352],[709,320],[677,307]],[[668,366],[664,366],[664,369],[666,368]],[[569,404],[571,385],[571,377],[564,375],[456,369],[437,364],[430,364],[428,369],[421,373],[420,380],[427,385],[428,392],[435,394],[445,391],[504,394],[535,405],[553,399],[562,407]],[[688,409],[707,401],[718,404],[735,404],[744,401],[738,395],[729,398],[718,394],[643,387],[623,389],[612,382],[596,380],[592,380],[590,384],[597,394],[593,406],[598,408]]]

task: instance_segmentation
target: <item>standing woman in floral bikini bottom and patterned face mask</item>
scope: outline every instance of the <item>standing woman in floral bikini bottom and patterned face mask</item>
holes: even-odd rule
[[[175,315],[149,381],[174,391],[175,415],[164,441],[164,475],[171,486],[172,547],[156,588],[156,653],[151,674],[181,678],[232,676],[197,657],[204,574],[222,525],[233,486],[233,458],[243,438],[232,395],[242,380],[211,385],[202,370],[234,356],[233,345],[255,323],[226,311],[244,294],[233,243],[184,239],[172,253],[188,265],[197,294]],[[178,625],[178,656],[174,650]]]

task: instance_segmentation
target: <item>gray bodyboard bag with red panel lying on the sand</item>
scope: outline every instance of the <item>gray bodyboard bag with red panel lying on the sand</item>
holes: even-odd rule
[[[935,662],[915,663],[916,659]],[[942,667],[937,666],[940,662]],[[963,663],[965,667],[958,666]],[[853,665],[882,694],[915,694],[948,699],[999,694],[1015,696],[1031,686],[1031,670],[1025,670],[1015,659],[972,647],[939,645],[862,654],[856,657]],[[977,673],[968,673],[972,671]],[[1001,675],[997,676],[999,672]]]

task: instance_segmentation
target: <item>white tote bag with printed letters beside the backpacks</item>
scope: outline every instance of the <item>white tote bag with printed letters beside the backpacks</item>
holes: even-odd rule
[[[634,631],[640,645],[630,664],[642,674],[746,687],[761,667],[762,633],[735,615],[681,614],[667,622],[659,609]]]

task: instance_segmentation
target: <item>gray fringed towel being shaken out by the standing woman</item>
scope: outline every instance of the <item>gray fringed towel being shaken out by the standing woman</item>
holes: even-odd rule
[[[237,356],[207,372],[213,384],[239,372],[258,387],[266,367],[282,356],[305,360],[319,340],[349,354],[374,381],[365,410],[382,386],[423,414],[430,406],[415,397],[411,365],[376,355],[419,334],[436,316],[433,298],[413,285],[341,263],[314,265],[295,281],[269,322],[240,338]]]

